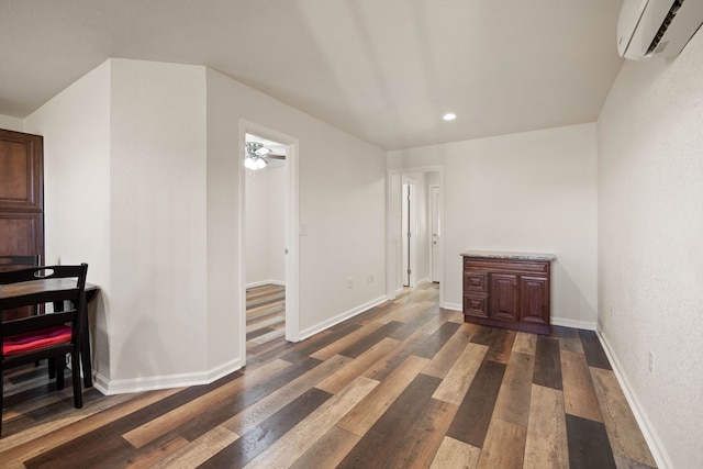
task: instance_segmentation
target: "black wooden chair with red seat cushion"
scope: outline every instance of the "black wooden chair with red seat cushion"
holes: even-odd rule
[[[56,367],[56,388],[63,389],[66,354],[71,356],[74,405],[82,407],[79,356],[87,315],[87,264],[0,272],[0,411],[5,369],[44,358],[53,359],[57,365],[62,364]],[[3,314],[8,309],[66,301],[72,309],[7,321]]]

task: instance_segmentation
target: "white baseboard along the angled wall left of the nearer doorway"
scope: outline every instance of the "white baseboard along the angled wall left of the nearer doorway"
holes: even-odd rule
[[[129,378],[119,380],[111,380],[105,378],[100,372],[96,372],[93,378],[93,386],[98,391],[105,395],[155,391],[157,389],[209,384],[226,375],[238,370],[239,368],[242,368],[242,360],[236,358],[207,372],[154,376],[146,378]]]

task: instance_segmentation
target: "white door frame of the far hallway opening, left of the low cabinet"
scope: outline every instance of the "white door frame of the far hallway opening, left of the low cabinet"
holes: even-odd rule
[[[440,221],[444,222],[444,166],[422,166],[422,167],[408,167],[408,168],[398,168],[398,169],[389,169],[386,176],[386,232],[387,232],[387,244],[386,244],[386,298],[389,301],[395,299],[398,294],[395,282],[398,275],[398,264],[400,263],[402,269],[402,263],[398,255],[399,244],[401,244],[401,230],[400,230],[400,206],[401,206],[401,188],[402,188],[402,176],[410,175],[414,172],[438,172],[439,174],[439,210],[440,210]],[[444,226],[442,227],[444,232]],[[442,260],[442,271],[444,279],[444,243],[439,245],[439,259]],[[444,304],[444,287],[445,281],[439,283],[439,305]]]

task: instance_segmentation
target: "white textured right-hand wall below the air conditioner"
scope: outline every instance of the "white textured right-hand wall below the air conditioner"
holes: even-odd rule
[[[703,467],[702,82],[699,32],[673,60],[626,62],[598,121],[600,328],[677,468]]]

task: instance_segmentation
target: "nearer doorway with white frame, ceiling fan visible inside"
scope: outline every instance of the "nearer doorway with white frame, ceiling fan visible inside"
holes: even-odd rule
[[[244,144],[239,150],[238,311],[244,366],[257,347],[299,340],[299,144],[293,137],[247,121],[241,122],[239,135]],[[264,163],[246,160],[254,150]]]

